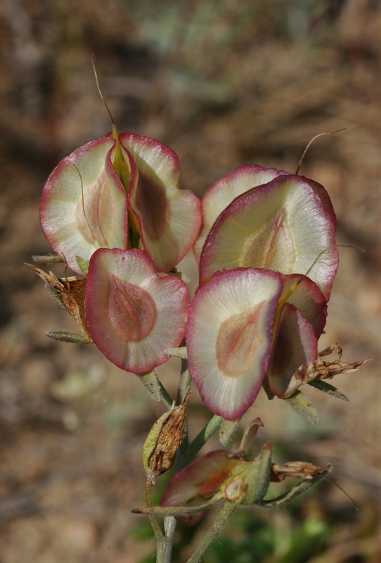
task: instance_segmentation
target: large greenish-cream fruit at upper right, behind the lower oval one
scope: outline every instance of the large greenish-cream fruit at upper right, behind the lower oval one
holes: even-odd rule
[[[283,175],[235,198],[202,248],[200,285],[226,268],[266,268],[307,274],[328,301],[338,264],[335,222],[318,186]]]

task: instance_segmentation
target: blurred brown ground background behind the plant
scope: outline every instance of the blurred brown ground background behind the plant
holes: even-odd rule
[[[245,163],[295,171],[312,137],[345,127],[317,139],[301,169],[328,189],[340,243],[365,251],[340,248],[321,348],[379,358],[381,2],[1,0],[0,44],[0,563],[135,563],[154,552],[130,510],[143,504],[141,445],[162,407],[95,347],[44,336],[72,320],[23,265],[50,250],[38,215],[46,177],[110,129],[91,53],[119,131],[173,148],[181,186],[200,196]],[[172,392],[178,368],[160,369]],[[350,403],[311,390],[317,428],[259,397],[261,438],[288,460],[332,462],[359,510],[326,485],[297,509],[329,524],[323,555],[253,551],[245,562],[381,562],[379,371],[377,361],[337,377]],[[191,405],[194,435],[208,415],[196,391]],[[291,512],[261,518],[285,537]]]

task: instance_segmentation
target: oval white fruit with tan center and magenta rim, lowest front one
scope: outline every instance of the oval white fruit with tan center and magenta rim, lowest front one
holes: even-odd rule
[[[195,295],[188,317],[188,367],[205,405],[233,420],[252,405],[269,363],[283,289],[278,272],[218,272]]]

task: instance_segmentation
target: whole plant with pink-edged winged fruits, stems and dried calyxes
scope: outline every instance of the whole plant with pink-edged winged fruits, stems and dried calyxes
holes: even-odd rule
[[[213,184],[200,201],[179,189],[179,160],[164,144],[132,133],[95,139],[53,170],[40,217],[54,256],[77,277],[34,270],[75,318],[79,334],[53,339],[95,343],[108,360],[136,374],[167,412],[143,448],[146,507],[157,540],[157,562],[171,560],[176,519],[195,524],[210,506],[221,511],[189,562],[198,562],[238,507],[283,505],[330,472],[306,462],[280,466],[271,443],[252,453],[263,426],[254,419],[230,449],[197,457],[219,431],[226,448],[240,418],[264,386],[311,422],[318,413],[302,384],[344,398],[326,380],[355,371],[337,345],[318,353],[337,271],[336,219],[321,184],[274,168],[245,165]],[[193,302],[180,260],[193,248],[200,284]],[[337,350],[332,362],[325,357]],[[155,368],[182,359],[178,406]],[[130,375],[127,377],[131,377]],[[188,443],[192,381],[212,412]],[[175,475],[153,507],[155,479],[176,461]],[[271,481],[300,479],[278,498]],[[164,527],[157,517],[164,517]]]

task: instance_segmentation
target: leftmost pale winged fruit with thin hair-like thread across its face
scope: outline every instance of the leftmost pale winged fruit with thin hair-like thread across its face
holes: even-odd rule
[[[63,158],[42,192],[41,226],[54,251],[81,273],[98,248],[127,248],[127,194],[112,166],[114,139],[95,139]]]

